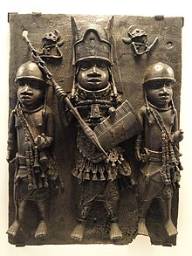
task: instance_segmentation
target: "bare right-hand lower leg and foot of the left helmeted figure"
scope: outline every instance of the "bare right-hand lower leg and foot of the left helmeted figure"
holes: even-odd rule
[[[38,200],[38,211],[40,213],[40,221],[38,223],[38,229],[35,232],[35,238],[45,237],[47,234],[47,225],[46,225],[46,208],[47,201],[46,200]]]

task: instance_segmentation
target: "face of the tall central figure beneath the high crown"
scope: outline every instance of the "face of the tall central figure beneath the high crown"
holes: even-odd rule
[[[109,73],[107,64],[102,60],[88,60],[79,64],[79,86],[89,91],[98,91],[107,86]]]

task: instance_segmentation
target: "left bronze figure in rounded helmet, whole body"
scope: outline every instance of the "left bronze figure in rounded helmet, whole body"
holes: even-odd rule
[[[54,137],[54,115],[46,106],[48,84],[38,65],[28,61],[17,70],[17,106],[10,114],[7,161],[15,159],[15,221],[7,233],[15,237],[24,222],[28,201],[38,205],[39,224],[35,238],[47,233],[46,211],[50,185],[58,170],[49,148]]]

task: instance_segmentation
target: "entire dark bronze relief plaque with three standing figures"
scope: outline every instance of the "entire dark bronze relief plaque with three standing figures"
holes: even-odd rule
[[[10,244],[175,245],[183,18],[9,23]]]

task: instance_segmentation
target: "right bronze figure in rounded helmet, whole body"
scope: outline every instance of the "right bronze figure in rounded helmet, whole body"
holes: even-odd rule
[[[138,234],[148,235],[147,210],[154,198],[159,200],[162,223],[168,236],[177,234],[172,221],[172,197],[179,186],[180,170],[178,142],[182,130],[178,129],[177,111],[173,102],[175,74],[164,64],[150,66],[144,76],[145,105],[139,110],[143,132],[137,136],[135,156],[141,162],[138,181],[140,218]]]

